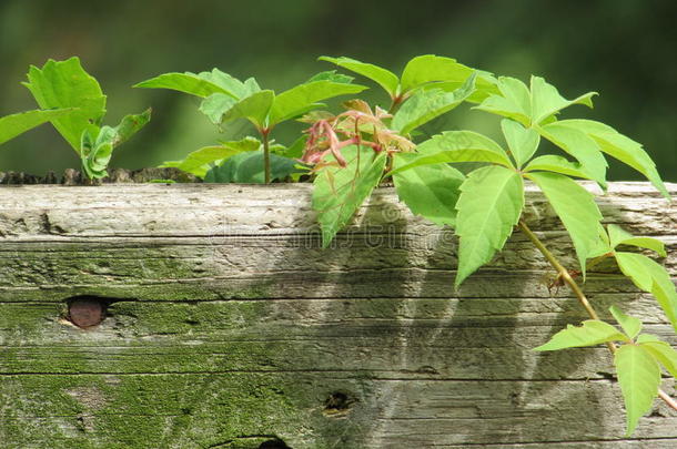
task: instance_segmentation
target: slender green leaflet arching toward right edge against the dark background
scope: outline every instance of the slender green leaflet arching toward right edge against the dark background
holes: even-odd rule
[[[640,143],[620,134],[612,126],[593,120],[563,120],[559,124],[586,133],[597,142],[603,152],[645,175],[666,198],[670,197],[656,171],[656,164]]]

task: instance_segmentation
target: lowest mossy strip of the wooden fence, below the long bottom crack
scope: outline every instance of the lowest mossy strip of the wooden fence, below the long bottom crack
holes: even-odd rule
[[[30,446],[49,435],[54,448],[85,441],[205,448],[256,435],[291,448],[619,441],[625,426],[620,395],[608,380],[400,380],[332,371],[14,375],[2,377],[0,390],[22,395],[4,411],[4,441]],[[337,394],[347,404],[327,408]],[[674,438],[677,417],[668,415],[657,405],[635,438]]]

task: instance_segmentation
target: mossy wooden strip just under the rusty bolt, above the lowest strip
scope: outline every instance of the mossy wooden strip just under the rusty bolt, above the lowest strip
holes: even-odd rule
[[[613,296],[597,304],[617,303]],[[523,380],[613,373],[604,348],[532,351],[586,318],[572,300],[481,300],[121,302],[95,331],[58,319],[60,305],[6,303],[0,314],[17,318],[0,329],[7,357],[0,373],[341,370],[396,379]],[[627,305],[659,316],[648,298]],[[540,312],[544,306],[553,312]],[[677,344],[670,326],[645,326]]]

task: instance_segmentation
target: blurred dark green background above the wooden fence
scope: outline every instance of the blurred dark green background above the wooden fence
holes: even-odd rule
[[[79,55],[108,94],[107,124],[153,108],[151,124],[117,151],[111,165],[154,166],[243,130],[215,129],[188,95],[131,89],[139,81],[218,67],[284,90],[332,69],[316,61],[322,54],[400,73],[412,57],[435,53],[525,81],[543,75],[566,98],[598,91],[594,110],[575,106],[565,115],[604,121],[644,143],[664,178],[677,182],[675,19],[677,2],[660,0],[2,0],[0,115],[36,106],[19,84],[29,64]],[[372,91],[385,102],[377,88]],[[435,126],[497,136],[498,120],[458,109]],[[281,129],[274,137],[289,144],[300,129]],[[612,180],[640,178],[609,164]],[[79,167],[79,161],[49,125],[0,151],[3,171],[65,167]]]

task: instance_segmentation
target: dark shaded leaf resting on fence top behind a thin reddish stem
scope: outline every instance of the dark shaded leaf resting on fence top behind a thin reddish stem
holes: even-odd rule
[[[270,156],[271,180],[284,180],[293,173],[300,172],[296,161],[276,154]],[[263,152],[243,152],[226,159],[220,166],[215,166],[206,173],[204,182],[263,184]]]

